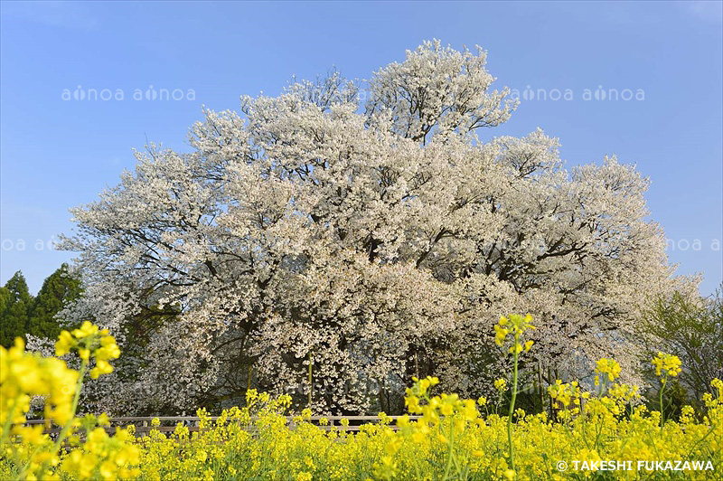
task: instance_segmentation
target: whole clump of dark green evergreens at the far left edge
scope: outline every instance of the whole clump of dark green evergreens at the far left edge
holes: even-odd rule
[[[24,339],[26,335],[57,337],[61,325],[55,315],[81,292],[80,277],[70,273],[68,264],[46,278],[34,297],[23,272],[18,270],[0,288],[0,344],[9,347],[15,337]]]

